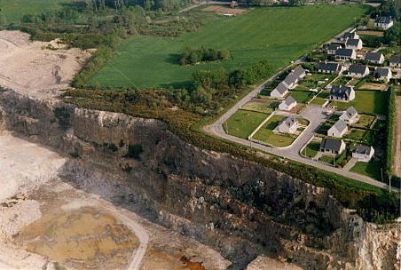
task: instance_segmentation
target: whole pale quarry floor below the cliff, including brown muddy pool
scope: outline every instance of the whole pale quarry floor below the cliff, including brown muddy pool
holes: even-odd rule
[[[139,216],[128,205],[71,186],[59,177],[65,162],[47,148],[0,133],[1,269],[230,265],[215,250]]]

